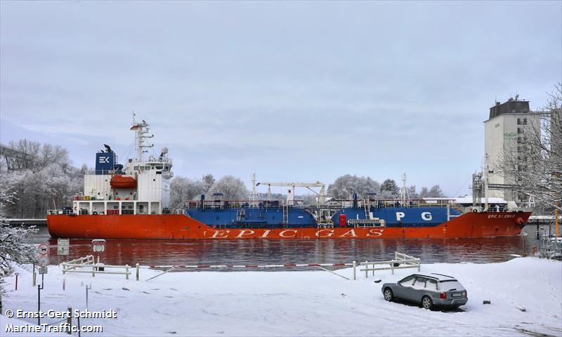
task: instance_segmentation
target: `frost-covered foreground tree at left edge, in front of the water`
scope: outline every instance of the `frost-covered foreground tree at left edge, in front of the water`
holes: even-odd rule
[[[11,226],[4,221],[4,206],[13,200],[13,192],[7,188],[6,173],[0,172],[0,296],[4,293],[5,278],[13,272],[14,263],[34,260],[34,246],[25,243],[34,229]]]

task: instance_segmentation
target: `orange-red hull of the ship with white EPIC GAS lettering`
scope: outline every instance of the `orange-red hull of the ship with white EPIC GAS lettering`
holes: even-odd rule
[[[52,237],[84,239],[443,239],[518,235],[530,212],[466,213],[433,227],[221,229],[182,214],[49,215]]]

